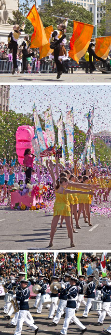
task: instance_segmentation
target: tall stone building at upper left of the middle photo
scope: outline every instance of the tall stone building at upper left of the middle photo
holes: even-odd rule
[[[10,85],[0,85],[0,111],[9,112]]]

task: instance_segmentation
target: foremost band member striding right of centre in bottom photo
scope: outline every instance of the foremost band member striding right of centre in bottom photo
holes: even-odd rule
[[[58,334],[67,334],[69,322],[72,320],[75,324],[78,325],[78,327],[82,330],[81,334],[83,334],[86,331],[86,327],[83,326],[83,324],[80,322],[80,320],[75,316],[75,309],[76,309],[76,298],[78,289],[76,287],[76,283],[78,282],[78,279],[71,276],[70,277],[70,286],[69,290],[67,291],[69,293],[68,299],[67,299],[67,308],[66,308],[66,317],[64,320],[63,328],[60,333]]]

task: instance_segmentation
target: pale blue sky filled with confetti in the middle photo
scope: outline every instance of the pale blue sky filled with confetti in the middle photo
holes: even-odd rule
[[[61,111],[65,121],[66,113],[73,106],[74,123],[83,131],[87,130],[84,115],[94,105],[94,132],[111,132],[111,85],[11,85],[10,108],[16,113],[32,112],[34,102],[42,116],[51,104],[55,122]]]

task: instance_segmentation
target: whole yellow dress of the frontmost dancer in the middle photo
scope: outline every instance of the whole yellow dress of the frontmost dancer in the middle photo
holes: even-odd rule
[[[59,189],[58,189],[59,190]],[[68,200],[68,193],[63,194],[58,193],[55,190],[55,203],[54,203],[54,217],[55,215],[63,215],[64,217],[70,217],[70,204]]]

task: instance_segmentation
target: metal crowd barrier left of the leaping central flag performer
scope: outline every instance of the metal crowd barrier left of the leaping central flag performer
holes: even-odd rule
[[[28,70],[26,73],[52,73],[54,70],[54,62],[50,60],[42,61],[28,61]],[[0,73],[11,73],[13,70],[13,62],[0,59]],[[19,68],[18,68],[19,70]],[[17,71],[17,69],[16,69]],[[21,64],[21,71],[23,71],[23,64]]]

